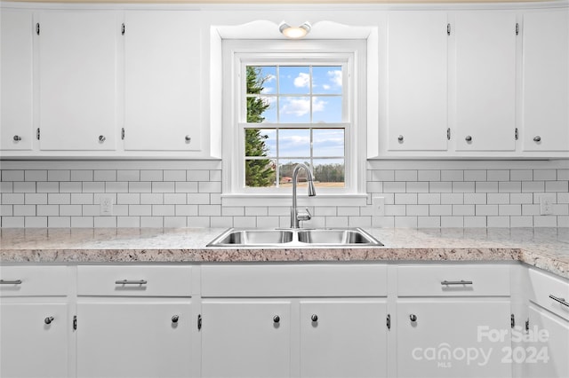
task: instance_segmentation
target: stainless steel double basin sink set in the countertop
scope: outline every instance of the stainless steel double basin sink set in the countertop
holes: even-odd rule
[[[207,247],[365,247],[382,246],[361,228],[236,229],[230,228]]]

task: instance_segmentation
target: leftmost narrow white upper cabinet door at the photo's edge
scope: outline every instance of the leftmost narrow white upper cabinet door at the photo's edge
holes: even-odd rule
[[[0,149],[32,148],[32,13],[0,12]]]

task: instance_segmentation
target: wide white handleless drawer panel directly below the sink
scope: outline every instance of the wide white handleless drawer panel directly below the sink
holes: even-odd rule
[[[376,264],[204,265],[202,295],[385,296],[387,267]]]

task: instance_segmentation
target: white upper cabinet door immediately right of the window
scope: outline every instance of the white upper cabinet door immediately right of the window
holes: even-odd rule
[[[389,12],[389,150],[447,149],[446,19],[446,12]]]

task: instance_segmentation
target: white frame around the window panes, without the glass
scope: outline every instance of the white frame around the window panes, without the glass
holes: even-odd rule
[[[365,135],[366,135],[366,41],[361,40],[224,40],[223,53],[223,193],[222,204],[244,206],[249,204],[290,206],[290,189],[245,188],[244,183],[244,129],[246,101],[244,101],[245,66],[342,66],[343,106],[342,122],[325,123],[321,128],[345,130],[345,186],[317,188],[317,196],[304,198],[310,205],[365,205]],[[346,71],[344,71],[346,69]],[[259,129],[286,128],[279,123],[259,123]],[[313,128],[313,123],[289,124],[290,128]]]

